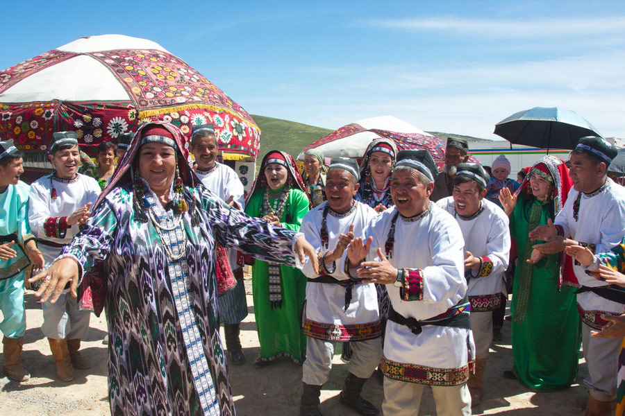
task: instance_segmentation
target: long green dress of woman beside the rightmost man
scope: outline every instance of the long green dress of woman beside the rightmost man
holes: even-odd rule
[[[580,320],[576,288],[562,286],[560,254],[549,254],[537,264],[526,262],[532,245],[528,233],[547,224],[551,201],[544,204],[519,198],[510,216],[510,236],[517,239],[512,304],[512,355],[514,372],[530,390],[545,392],[568,388],[577,376]]]

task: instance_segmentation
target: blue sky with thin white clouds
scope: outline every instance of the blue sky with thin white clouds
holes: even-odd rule
[[[251,114],[338,128],[394,115],[497,139],[530,107],[625,137],[625,1],[23,1],[0,68],[78,37],[158,42]]]

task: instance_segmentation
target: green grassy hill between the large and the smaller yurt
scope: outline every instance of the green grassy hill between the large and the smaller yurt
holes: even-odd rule
[[[251,116],[260,127],[261,132],[259,164],[269,150],[283,150],[292,157],[297,157],[303,148],[332,131],[294,121],[272,119],[272,117],[253,114]]]

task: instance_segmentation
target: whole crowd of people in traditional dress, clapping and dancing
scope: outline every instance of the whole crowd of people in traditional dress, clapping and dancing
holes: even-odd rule
[[[54,171],[30,186],[22,154],[0,141],[6,375],[29,378],[20,358],[32,264],[58,379],[90,367],[81,340],[90,314],[105,311],[111,414],[234,415],[228,365],[247,361],[249,264],[253,367],[283,357],[302,366],[301,416],[322,414],[337,343],[348,362],[340,402],[358,414],[416,416],[430,386],[438,415],[471,415],[496,388],[485,369],[508,292],[503,375],[535,392],[568,388],[581,344],[585,415],[613,414],[618,402],[622,416],[625,188],[608,177],[617,149],[585,137],[567,162],[547,155],[519,181],[503,155],[481,166],[468,150],[449,138],[439,172],[426,150],[376,139],[360,164],[326,166],[310,150],[303,173],[272,150],[246,196],[217,160],[212,124],[189,138],[145,123],[101,144],[97,165],[81,164],[73,132],[56,132]],[[362,395],[374,374],[381,410]]]

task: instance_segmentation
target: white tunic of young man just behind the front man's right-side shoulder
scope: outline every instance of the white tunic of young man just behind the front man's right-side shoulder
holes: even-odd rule
[[[451,196],[439,200],[436,205],[458,221],[465,240],[465,251],[482,260],[480,270],[469,271],[471,311],[497,309],[501,304],[499,293],[510,254],[508,216],[503,209],[486,199],[481,201],[480,209],[470,218],[462,217],[456,212]]]

